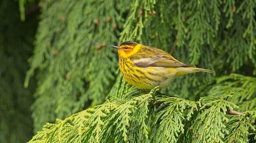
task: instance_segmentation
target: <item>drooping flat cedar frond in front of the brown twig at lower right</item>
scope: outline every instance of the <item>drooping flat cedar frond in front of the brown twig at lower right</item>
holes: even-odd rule
[[[233,107],[239,108],[234,103],[227,102],[228,97],[233,98],[232,94],[219,97],[202,97],[201,102],[205,103],[200,109],[207,108],[194,121],[192,130],[197,139],[196,142],[223,142],[225,134],[230,134],[224,125],[224,121],[228,122],[225,117],[227,110]]]

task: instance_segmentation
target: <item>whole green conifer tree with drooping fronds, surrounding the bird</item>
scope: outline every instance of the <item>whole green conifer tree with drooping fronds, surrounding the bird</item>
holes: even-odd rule
[[[39,5],[24,82],[37,80],[29,142],[256,142],[255,0]],[[132,87],[108,47],[126,40],[215,74],[182,75],[160,90]]]

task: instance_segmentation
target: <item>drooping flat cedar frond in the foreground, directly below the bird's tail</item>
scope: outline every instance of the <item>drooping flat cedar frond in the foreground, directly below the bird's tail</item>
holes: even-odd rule
[[[197,109],[196,102],[185,100],[179,96],[170,95],[159,95],[158,102],[162,103],[160,105],[160,110],[156,110],[157,119],[152,131],[152,142],[177,142],[177,137],[179,133],[184,132],[184,125],[182,121],[184,117],[182,113],[184,109],[190,108],[190,112],[187,114],[188,120],[193,114],[193,109]]]

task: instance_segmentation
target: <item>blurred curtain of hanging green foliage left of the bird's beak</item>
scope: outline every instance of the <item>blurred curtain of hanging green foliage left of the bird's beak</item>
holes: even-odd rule
[[[117,67],[116,54],[107,48],[118,41],[118,30],[112,24],[122,23],[116,22],[116,11],[109,11],[113,5],[108,1],[42,1],[41,28],[25,81],[27,86],[34,70],[39,69],[40,86],[32,105],[36,131],[46,121],[63,119],[84,106],[103,102],[102,95],[114,83]],[[105,11],[109,11],[108,15],[99,17]],[[107,18],[111,22],[106,22]]]

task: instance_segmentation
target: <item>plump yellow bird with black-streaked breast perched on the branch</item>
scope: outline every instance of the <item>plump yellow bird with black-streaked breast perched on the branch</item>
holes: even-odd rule
[[[117,49],[118,65],[125,81],[142,89],[166,87],[182,74],[199,71],[215,73],[183,64],[163,50],[134,41],[110,47]]]

